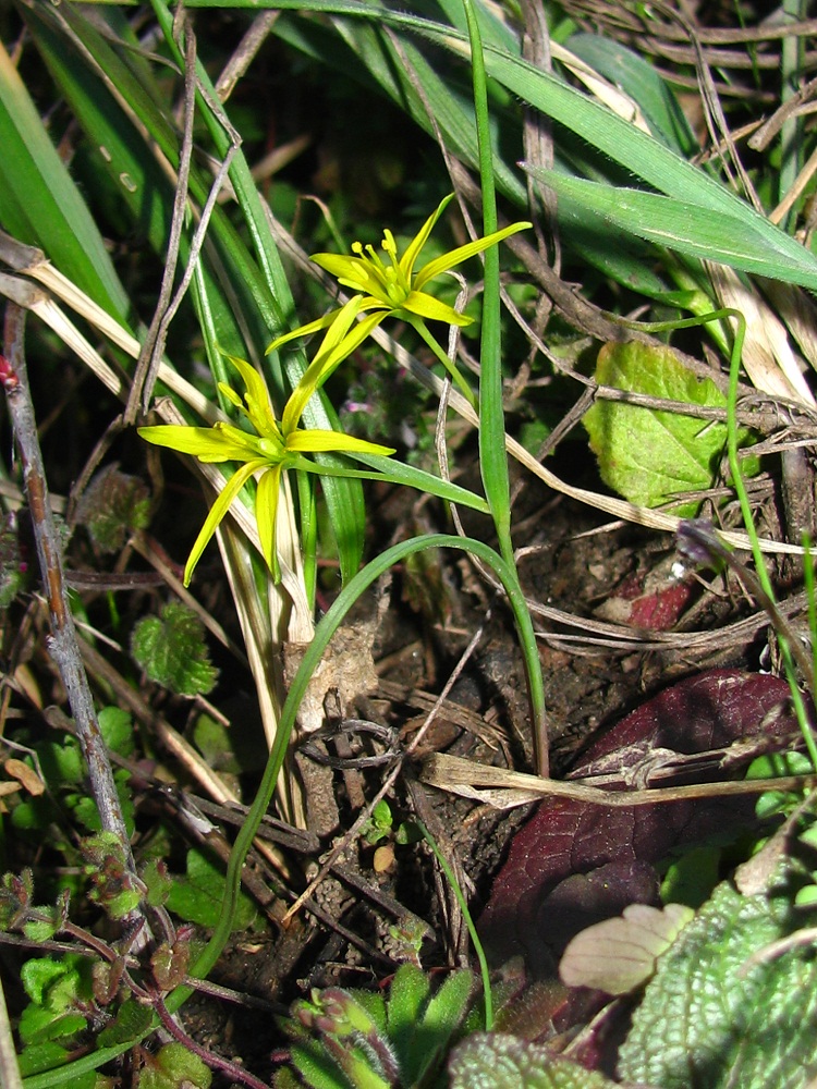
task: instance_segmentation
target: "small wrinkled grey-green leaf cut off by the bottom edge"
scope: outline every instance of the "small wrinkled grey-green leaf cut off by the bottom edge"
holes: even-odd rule
[[[614,1082],[515,1036],[475,1032],[451,1054],[451,1089],[613,1089]]]

